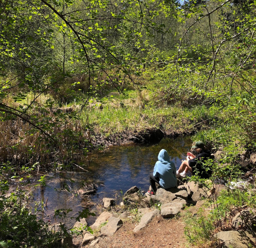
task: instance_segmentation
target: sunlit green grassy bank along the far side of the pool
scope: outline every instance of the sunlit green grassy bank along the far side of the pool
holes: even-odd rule
[[[225,147],[233,157],[254,150],[248,135],[237,123],[231,122],[226,110],[216,106],[179,103],[156,105],[150,91],[129,90],[126,95],[112,93],[111,101],[92,101],[81,114],[97,136],[161,129],[173,136],[196,133],[194,140],[202,140],[213,151]]]

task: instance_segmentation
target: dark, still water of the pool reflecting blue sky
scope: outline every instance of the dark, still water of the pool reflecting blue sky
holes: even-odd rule
[[[54,209],[73,209],[69,217],[77,216],[86,202],[74,192],[88,179],[98,185],[97,193],[91,197],[93,202],[117,193],[120,195],[121,190],[125,193],[134,185],[147,191],[150,186],[148,175],[153,172],[159,151],[167,150],[170,160],[179,168],[191,143],[190,137],[181,137],[162,139],[160,143],[148,146],[113,146],[105,153],[94,151],[83,165],[89,172],[50,174],[47,186],[35,190],[34,200],[45,202],[48,198],[47,208],[44,208],[44,219],[47,220],[52,218]]]

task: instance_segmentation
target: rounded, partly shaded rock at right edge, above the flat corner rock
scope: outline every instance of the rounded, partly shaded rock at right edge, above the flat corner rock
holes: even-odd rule
[[[256,231],[256,209],[247,208],[233,217],[232,227],[246,227],[247,230]]]

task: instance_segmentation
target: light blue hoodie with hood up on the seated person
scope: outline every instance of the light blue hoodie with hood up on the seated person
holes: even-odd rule
[[[170,162],[170,157],[166,150],[162,149],[158,154],[158,160],[155,163],[153,176],[159,177],[159,184],[163,189],[169,189],[177,185],[176,167]]]

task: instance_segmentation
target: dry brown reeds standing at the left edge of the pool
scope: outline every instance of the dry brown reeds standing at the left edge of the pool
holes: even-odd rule
[[[50,114],[51,122],[56,117]],[[53,160],[58,163],[66,163],[77,156],[78,146],[82,146],[83,140],[91,141],[89,130],[85,130],[80,120],[70,120],[58,123],[48,130],[48,133],[58,140],[55,143],[42,132],[36,130],[21,118],[0,122],[0,158],[2,162],[10,161],[16,165],[31,166],[36,162],[47,165]],[[67,135],[67,130],[75,134]]]

